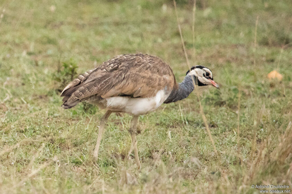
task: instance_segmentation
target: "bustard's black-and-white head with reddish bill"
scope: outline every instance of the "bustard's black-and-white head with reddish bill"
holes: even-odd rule
[[[207,67],[196,65],[187,71],[186,75],[193,75],[194,81],[198,86],[213,85],[215,88],[220,89],[219,85],[213,80],[213,74]]]

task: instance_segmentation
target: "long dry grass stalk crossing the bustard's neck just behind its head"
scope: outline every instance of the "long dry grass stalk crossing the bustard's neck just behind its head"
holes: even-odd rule
[[[179,22],[179,20],[178,20],[178,11],[177,11],[177,7],[176,7],[176,2],[175,2],[175,0],[173,0],[173,4],[174,4],[174,10],[175,10],[175,14],[176,14],[176,19],[177,19],[177,21],[178,21],[178,30],[179,30],[179,32],[180,32],[180,39],[181,39],[182,44],[183,44],[183,50],[184,50],[184,53],[185,53],[185,58],[186,58],[187,65],[188,65],[189,69],[191,69],[190,62],[189,62],[189,59],[188,59],[188,57],[187,57],[187,52],[186,52],[186,49],[185,49],[185,43],[184,43],[184,40],[183,40],[183,34],[182,34],[181,27],[180,27],[180,22]],[[195,88],[196,88],[196,92],[195,92],[195,93],[196,93],[196,95],[197,95],[197,97],[198,97],[199,106],[200,106],[200,113],[201,113],[201,115],[202,115],[202,118],[203,118],[203,121],[204,121],[204,124],[205,124],[206,130],[207,130],[207,132],[208,132],[208,136],[209,136],[210,141],[211,141],[211,143],[212,143],[212,146],[213,146],[213,148],[214,148],[214,152],[215,152],[215,154],[217,155],[218,152],[217,152],[217,149],[216,149],[216,147],[215,147],[215,143],[214,143],[214,140],[213,140],[213,138],[212,138],[211,131],[210,131],[210,129],[209,129],[209,125],[208,125],[208,122],[207,122],[207,118],[206,118],[206,116],[205,116],[205,114],[204,114],[204,111],[203,111],[203,107],[202,107],[202,104],[201,104],[201,100],[200,100],[199,92],[198,92],[198,89],[197,89],[197,87],[196,87],[196,84],[195,84],[194,79],[192,79],[192,80],[193,80],[193,84],[194,84],[194,86],[195,86]]]

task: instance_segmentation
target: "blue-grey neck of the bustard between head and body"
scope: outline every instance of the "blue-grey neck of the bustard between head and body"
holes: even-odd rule
[[[196,79],[194,79],[196,81]],[[165,104],[176,102],[182,99],[185,99],[190,95],[190,93],[194,90],[194,82],[192,80],[191,75],[185,76],[185,79],[182,83],[179,83],[177,87],[174,87],[171,91],[171,94],[164,101]]]

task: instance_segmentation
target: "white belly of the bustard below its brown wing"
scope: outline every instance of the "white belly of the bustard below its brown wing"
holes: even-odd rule
[[[109,97],[103,99],[100,103],[102,108],[112,111],[119,111],[133,115],[142,115],[157,109],[168,97],[163,90],[159,90],[154,97],[132,98],[132,97]]]

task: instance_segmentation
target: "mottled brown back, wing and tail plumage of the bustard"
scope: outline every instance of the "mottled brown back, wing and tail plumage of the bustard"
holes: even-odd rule
[[[154,55],[118,55],[99,67],[78,76],[62,91],[65,109],[95,97],[154,97],[158,91],[169,92],[177,83],[173,71]]]

